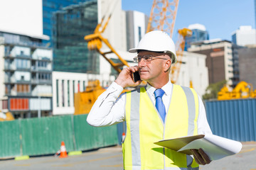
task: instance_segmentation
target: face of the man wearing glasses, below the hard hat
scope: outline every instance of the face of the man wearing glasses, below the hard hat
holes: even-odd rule
[[[167,60],[171,60],[171,58],[164,53],[149,51],[142,51],[138,54],[140,57],[144,57],[146,55],[151,55],[154,57],[152,57],[151,62],[146,62],[144,59],[138,62],[139,75],[142,80],[150,83],[151,81],[157,81],[159,77],[161,77],[161,74],[164,73],[165,62]]]

